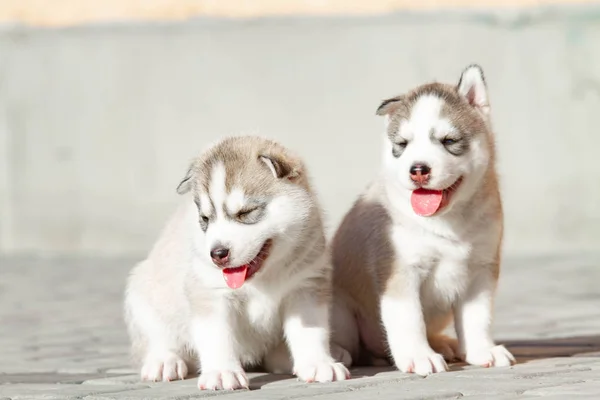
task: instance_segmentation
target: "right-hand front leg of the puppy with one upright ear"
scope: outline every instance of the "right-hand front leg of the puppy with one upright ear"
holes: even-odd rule
[[[493,297],[497,266],[482,269],[454,307],[454,325],[461,355],[465,361],[484,367],[502,367],[515,363],[513,355],[492,338]]]

